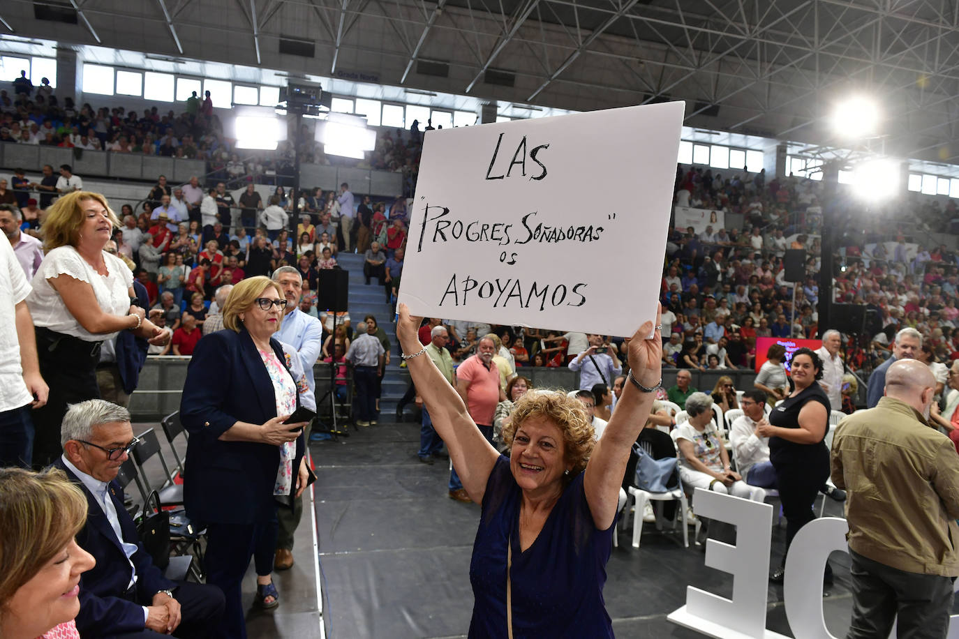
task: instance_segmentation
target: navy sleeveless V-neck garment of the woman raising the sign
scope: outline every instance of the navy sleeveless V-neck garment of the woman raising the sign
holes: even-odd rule
[[[596,529],[583,491],[573,478],[533,544],[520,551],[522,491],[501,456],[490,473],[473,544],[471,639],[507,636],[506,543],[512,536],[513,636],[612,637],[602,587],[613,546],[613,526]],[[615,525],[615,523],[614,523]]]

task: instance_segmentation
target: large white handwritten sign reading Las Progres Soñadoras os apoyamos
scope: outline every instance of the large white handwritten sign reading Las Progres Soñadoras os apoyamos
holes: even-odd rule
[[[684,103],[430,131],[399,301],[632,335],[653,319]]]

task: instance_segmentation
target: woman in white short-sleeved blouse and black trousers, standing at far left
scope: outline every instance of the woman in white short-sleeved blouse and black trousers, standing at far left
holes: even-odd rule
[[[36,270],[27,307],[34,317],[40,373],[50,385],[47,405],[34,411],[34,466],[60,454],[60,422],[68,403],[100,397],[96,367],[100,345],[119,331],[152,344],[171,332],[135,306],[133,274],[104,251],[120,222],[101,194],[78,191],[60,197],[43,222],[46,257]]]

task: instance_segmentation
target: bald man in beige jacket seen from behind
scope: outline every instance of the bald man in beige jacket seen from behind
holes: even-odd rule
[[[885,397],[836,428],[832,482],[849,491],[853,621],[847,639],[945,639],[959,576],[959,455],[928,425],[936,381],[924,363],[894,362]]]

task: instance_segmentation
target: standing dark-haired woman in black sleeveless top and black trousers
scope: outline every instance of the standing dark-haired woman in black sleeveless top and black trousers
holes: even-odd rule
[[[830,425],[830,399],[817,383],[823,377],[819,355],[809,349],[792,355],[790,374],[795,385],[792,393],[769,414],[769,423],[761,424],[760,437],[769,439],[769,460],[776,477],[786,517],[785,552],[799,529],[815,518],[812,504],[830,476],[830,450],[824,444]],[[771,577],[782,582],[783,562]],[[826,564],[826,580],[832,570]]]

